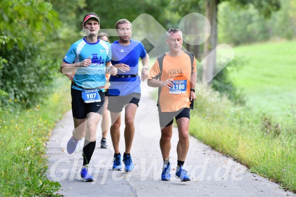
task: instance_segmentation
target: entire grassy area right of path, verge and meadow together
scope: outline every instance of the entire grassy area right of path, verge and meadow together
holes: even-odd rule
[[[236,158],[251,172],[296,192],[296,42],[234,48],[248,59],[231,79],[246,94],[246,106],[196,86],[191,135]],[[278,134],[277,134],[278,132]]]

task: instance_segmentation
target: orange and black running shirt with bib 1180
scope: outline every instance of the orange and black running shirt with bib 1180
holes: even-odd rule
[[[195,58],[193,60],[192,72],[196,72]],[[148,74],[148,79],[155,78],[159,73],[159,64],[156,59]],[[166,53],[162,62],[160,81],[173,79],[176,85],[174,88],[161,87],[159,94],[161,112],[176,112],[182,108],[189,108],[190,76],[191,60],[189,55],[183,52],[182,55],[178,57],[172,57]]]

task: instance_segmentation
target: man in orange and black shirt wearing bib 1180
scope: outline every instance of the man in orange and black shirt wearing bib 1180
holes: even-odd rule
[[[148,85],[159,87],[158,113],[161,129],[160,150],[163,158],[162,181],[171,180],[170,150],[173,135],[173,120],[176,119],[179,132],[177,145],[176,177],[190,181],[183,165],[189,148],[190,101],[196,100],[196,66],[193,54],[182,51],[182,32],[169,29],[166,43],[170,51],[157,58],[148,74]],[[157,80],[159,78],[159,80]]]

